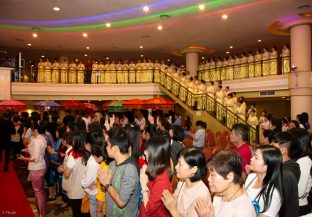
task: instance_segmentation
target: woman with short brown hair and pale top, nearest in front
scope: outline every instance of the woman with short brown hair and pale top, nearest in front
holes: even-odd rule
[[[215,193],[213,203],[196,201],[200,217],[256,217],[254,207],[240,185],[242,158],[231,150],[222,150],[208,161],[209,189]]]

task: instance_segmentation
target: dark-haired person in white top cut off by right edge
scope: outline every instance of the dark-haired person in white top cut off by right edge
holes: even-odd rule
[[[312,186],[311,167],[312,167],[312,148],[311,139],[308,131],[305,129],[294,128],[289,133],[296,139],[298,152],[293,157],[300,167],[300,178],[298,182],[299,193],[299,214],[300,216],[311,213],[311,207],[308,204],[308,196]]]

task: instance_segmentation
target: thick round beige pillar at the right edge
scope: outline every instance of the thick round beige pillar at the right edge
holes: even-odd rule
[[[290,28],[291,64],[297,68],[288,75],[291,100],[291,118],[307,112],[312,120],[311,83],[311,25],[296,25]]]

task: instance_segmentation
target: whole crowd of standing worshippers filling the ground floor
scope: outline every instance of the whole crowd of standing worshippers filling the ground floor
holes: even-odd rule
[[[16,145],[14,136],[21,133],[24,146],[18,146],[17,157],[28,164],[42,217],[45,182],[47,198],[61,193],[58,208],[70,204],[73,216],[294,217],[311,212],[311,136],[299,125],[275,128],[266,142],[251,148],[249,128],[234,124],[230,142],[235,149],[205,159],[206,123],[197,121],[196,132],[186,132],[191,122],[179,114],[154,117],[138,111],[132,120],[81,113],[68,114],[62,122],[56,112],[44,112],[42,118],[26,114],[11,120],[4,112],[0,138]],[[193,147],[184,147],[186,136]]]

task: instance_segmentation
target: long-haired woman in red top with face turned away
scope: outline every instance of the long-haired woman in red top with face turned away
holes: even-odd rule
[[[170,217],[161,201],[162,192],[171,191],[169,148],[169,141],[162,136],[152,137],[146,143],[144,154],[148,165],[140,171],[143,199],[139,217]]]

